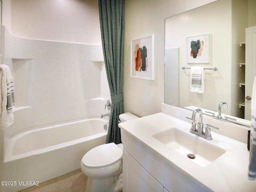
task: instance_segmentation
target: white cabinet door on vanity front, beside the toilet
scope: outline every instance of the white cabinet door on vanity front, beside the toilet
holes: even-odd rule
[[[164,187],[123,150],[123,192],[163,192]]]

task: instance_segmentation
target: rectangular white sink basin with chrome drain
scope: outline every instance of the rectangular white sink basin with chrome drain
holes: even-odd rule
[[[216,146],[213,141],[200,138],[188,130],[175,127],[158,132],[152,135],[152,137],[168,146],[170,150],[178,152],[202,167],[208,166],[226,152],[224,149]],[[194,155],[195,158],[192,159],[191,155],[189,158],[188,154]]]

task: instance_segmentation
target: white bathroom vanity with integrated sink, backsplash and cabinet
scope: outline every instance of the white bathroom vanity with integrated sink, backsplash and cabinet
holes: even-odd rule
[[[119,124],[123,191],[256,191],[247,176],[249,128],[203,115],[205,127],[219,128],[206,140],[190,133],[186,117],[191,111],[162,104],[160,113]]]

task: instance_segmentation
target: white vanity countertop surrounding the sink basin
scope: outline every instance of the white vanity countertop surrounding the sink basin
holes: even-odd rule
[[[249,152],[247,145],[243,142],[212,132],[213,140],[207,140],[207,142],[212,142],[226,152],[208,166],[202,167],[152,137],[172,127],[182,128],[189,132],[190,122],[161,112],[120,123],[119,127],[134,139],[139,140],[170,166],[175,167],[200,185],[204,184],[211,190],[220,192],[256,191],[256,181],[248,180]]]

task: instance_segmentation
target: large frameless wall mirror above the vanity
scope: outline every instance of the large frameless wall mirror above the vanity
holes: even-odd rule
[[[164,102],[190,110],[202,108],[214,116],[218,105],[226,102],[222,118],[250,126],[251,100],[246,96],[252,96],[256,76],[254,26],[256,0],[217,0],[166,18]],[[188,42],[202,36],[207,60],[187,60]],[[252,54],[249,49],[254,49]],[[203,93],[190,91],[195,66],[204,67]]]

